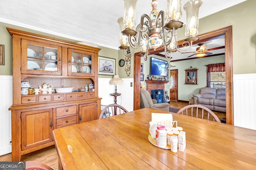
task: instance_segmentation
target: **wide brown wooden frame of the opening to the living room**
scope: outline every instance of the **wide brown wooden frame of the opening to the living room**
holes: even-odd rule
[[[225,65],[226,65],[226,123],[234,125],[234,105],[233,105],[233,37],[232,37],[232,25],[210,31],[198,35],[200,39],[194,43],[203,43],[216,39],[217,37],[225,37]],[[183,40],[178,41],[178,45],[181,46]],[[150,49],[148,55],[163,52],[164,48],[158,48],[156,51]],[[140,52],[134,54],[134,110],[140,109]],[[143,59],[143,58],[142,58]]]

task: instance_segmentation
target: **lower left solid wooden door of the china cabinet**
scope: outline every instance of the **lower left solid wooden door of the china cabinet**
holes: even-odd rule
[[[52,109],[21,113],[21,149],[26,150],[53,141]]]

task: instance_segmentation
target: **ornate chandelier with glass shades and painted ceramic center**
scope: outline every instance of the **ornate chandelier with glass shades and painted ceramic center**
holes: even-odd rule
[[[134,55],[135,49],[140,47],[140,55],[146,61],[148,50],[164,48],[165,57],[172,58],[172,53],[178,51],[185,53],[192,47],[192,42],[199,39],[198,35],[198,11],[202,0],[190,0],[184,5],[186,11],[186,28],[182,47],[178,47],[177,29],[183,26],[182,0],[167,0],[166,15],[164,11],[156,9],[158,2],[152,0],[150,16],[143,14],[140,24],[136,27],[136,2],[137,0],[124,0],[124,17],[118,19],[120,25],[119,49],[124,50],[126,57]]]

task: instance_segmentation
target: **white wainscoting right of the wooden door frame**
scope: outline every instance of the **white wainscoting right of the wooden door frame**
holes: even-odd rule
[[[234,125],[256,130],[256,74],[234,74]]]

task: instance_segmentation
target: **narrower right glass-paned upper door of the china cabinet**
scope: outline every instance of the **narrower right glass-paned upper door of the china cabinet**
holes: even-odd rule
[[[94,53],[68,49],[68,75],[94,76]]]

